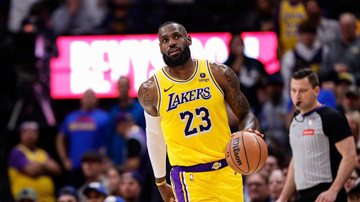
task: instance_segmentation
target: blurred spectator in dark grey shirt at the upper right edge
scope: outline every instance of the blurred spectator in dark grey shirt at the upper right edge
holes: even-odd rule
[[[342,13],[339,24],[341,38],[330,43],[328,57],[320,74],[330,71],[357,74],[360,69],[360,38],[356,35],[356,17],[349,12]]]

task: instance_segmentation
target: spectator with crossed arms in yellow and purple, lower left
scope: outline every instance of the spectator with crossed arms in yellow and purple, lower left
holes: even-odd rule
[[[55,202],[54,184],[51,176],[60,175],[58,164],[49,154],[36,147],[38,124],[26,121],[20,125],[20,143],[11,149],[8,177],[12,196],[25,187],[33,187],[40,202]]]

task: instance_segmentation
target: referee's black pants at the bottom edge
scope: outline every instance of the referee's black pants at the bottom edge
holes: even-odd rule
[[[314,202],[322,192],[328,190],[332,183],[321,183],[306,190],[299,190],[296,194],[295,202]],[[337,194],[335,202],[347,202],[345,189],[341,189]]]

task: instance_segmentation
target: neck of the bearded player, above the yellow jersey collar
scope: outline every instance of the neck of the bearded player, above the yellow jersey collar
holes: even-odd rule
[[[190,78],[195,70],[195,62],[191,57],[183,64],[175,67],[166,66],[165,71],[175,79],[186,80]]]

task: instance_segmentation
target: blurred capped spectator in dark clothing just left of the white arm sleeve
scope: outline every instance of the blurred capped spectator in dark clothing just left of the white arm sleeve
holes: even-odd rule
[[[130,113],[119,112],[115,123],[117,134],[125,140],[125,170],[137,170],[143,175],[149,162],[145,132],[135,124]]]

